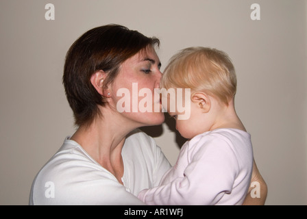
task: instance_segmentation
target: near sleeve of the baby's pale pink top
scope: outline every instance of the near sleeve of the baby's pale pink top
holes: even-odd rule
[[[238,162],[221,138],[201,138],[190,151],[184,175],[138,195],[149,205],[214,205],[230,193]]]

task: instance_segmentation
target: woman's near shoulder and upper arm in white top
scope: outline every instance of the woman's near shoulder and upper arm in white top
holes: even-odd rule
[[[114,175],[89,157],[81,146],[66,139],[36,175],[30,204],[114,204],[120,201],[103,197],[115,191],[130,196]]]

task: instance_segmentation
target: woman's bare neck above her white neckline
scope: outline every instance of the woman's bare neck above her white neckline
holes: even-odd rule
[[[95,118],[88,127],[79,127],[71,136],[82,146],[97,163],[111,172],[120,182],[123,177],[123,159],[121,151],[127,136],[134,127],[115,123],[119,118],[114,118],[116,114],[103,112],[103,116]]]

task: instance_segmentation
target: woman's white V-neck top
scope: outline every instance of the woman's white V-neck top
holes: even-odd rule
[[[29,205],[144,205],[138,192],[157,186],[171,165],[141,131],[126,138],[122,157],[125,186],[67,137],[36,175]]]

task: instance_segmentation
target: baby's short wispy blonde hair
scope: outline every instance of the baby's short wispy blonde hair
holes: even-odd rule
[[[173,55],[161,79],[162,88],[191,88],[219,98],[228,105],[236,94],[236,73],[223,51],[190,47]]]

